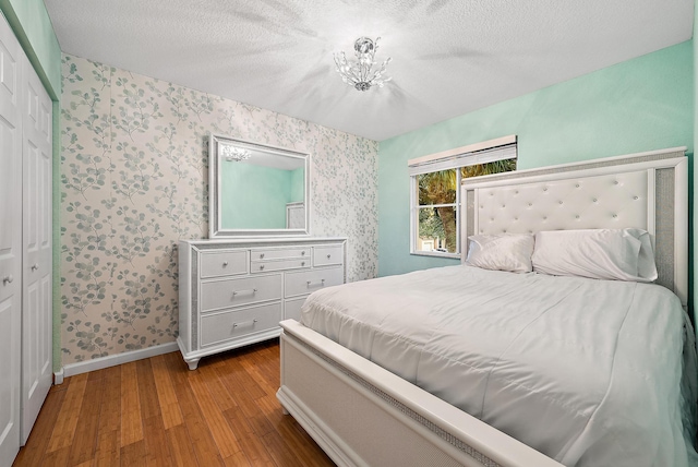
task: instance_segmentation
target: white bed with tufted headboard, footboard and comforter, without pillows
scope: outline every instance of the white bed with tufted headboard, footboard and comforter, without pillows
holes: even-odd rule
[[[309,298],[304,324],[281,323],[277,397],[338,465],[695,465],[684,151],[461,188],[464,244],[643,229],[654,284],[462,265],[327,288]],[[477,295],[492,284],[506,292]]]

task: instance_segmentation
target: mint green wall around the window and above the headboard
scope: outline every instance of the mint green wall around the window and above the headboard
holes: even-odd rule
[[[378,275],[459,262],[410,255],[408,159],[508,134],[520,169],[674,146],[693,157],[693,61],[689,40],[381,142]]]

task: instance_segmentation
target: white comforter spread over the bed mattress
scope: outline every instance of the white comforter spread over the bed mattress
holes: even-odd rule
[[[698,465],[661,286],[453,266],[323,289],[301,322],[567,466]]]

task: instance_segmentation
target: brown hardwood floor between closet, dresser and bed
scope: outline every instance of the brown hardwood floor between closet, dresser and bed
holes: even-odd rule
[[[14,466],[334,466],[276,399],[278,340],[67,378]]]

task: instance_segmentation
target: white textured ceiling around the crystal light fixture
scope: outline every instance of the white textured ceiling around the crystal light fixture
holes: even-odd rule
[[[372,140],[690,39],[694,0],[45,0],[64,52]],[[383,88],[335,71],[381,36]]]

